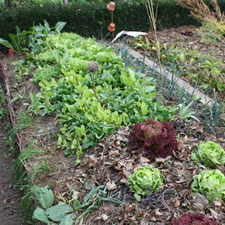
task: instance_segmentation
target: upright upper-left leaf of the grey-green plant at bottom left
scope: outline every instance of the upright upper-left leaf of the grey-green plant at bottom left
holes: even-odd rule
[[[49,190],[48,187],[38,187],[35,189],[35,197],[37,198],[37,201],[40,203],[40,205],[47,209],[50,206],[52,206],[54,202],[54,194],[52,190]]]

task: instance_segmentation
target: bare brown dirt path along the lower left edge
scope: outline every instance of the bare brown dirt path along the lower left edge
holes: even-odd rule
[[[6,130],[0,122],[0,218],[1,225],[22,225],[19,210],[20,193],[12,185],[13,159],[10,157],[9,146],[6,145]]]

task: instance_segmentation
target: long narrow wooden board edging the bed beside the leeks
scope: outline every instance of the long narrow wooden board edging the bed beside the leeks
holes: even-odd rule
[[[119,44],[115,44],[115,46],[119,46]],[[127,45],[124,45],[124,47],[126,47],[128,49],[128,53],[133,56],[134,58],[138,59],[139,61],[144,60],[144,56],[142,54],[140,54],[139,52],[129,48]],[[160,68],[158,66],[157,63],[154,63],[152,60],[148,59],[147,57],[145,57],[145,61],[144,61],[146,66],[149,66],[151,68],[154,68],[158,73],[160,73]],[[170,73],[168,70],[166,70],[165,68],[162,67],[162,72],[164,75],[166,75],[166,78],[171,81],[173,78],[172,73]],[[180,88],[184,88],[184,90],[192,95],[194,93],[194,95],[199,98],[199,101],[202,104],[208,104],[210,106],[212,106],[215,102],[213,99],[209,98],[208,96],[206,96],[205,94],[203,94],[202,92],[200,92],[198,89],[193,88],[189,83],[185,82],[184,80],[180,79],[179,77],[176,78],[177,82],[176,85]]]

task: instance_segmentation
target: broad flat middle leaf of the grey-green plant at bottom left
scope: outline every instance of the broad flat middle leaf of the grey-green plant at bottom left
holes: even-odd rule
[[[46,215],[55,222],[60,222],[67,213],[73,212],[73,208],[64,202],[59,202],[46,210]]]

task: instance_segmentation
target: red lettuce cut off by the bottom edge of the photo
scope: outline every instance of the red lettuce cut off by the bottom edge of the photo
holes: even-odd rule
[[[218,225],[213,219],[208,218],[204,214],[184,214],[175,219],[171,225]]]

